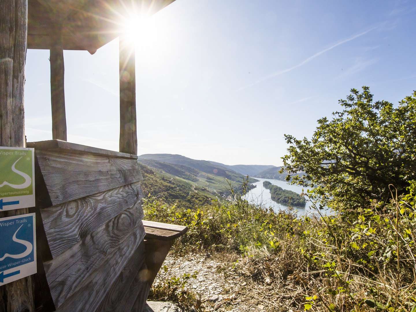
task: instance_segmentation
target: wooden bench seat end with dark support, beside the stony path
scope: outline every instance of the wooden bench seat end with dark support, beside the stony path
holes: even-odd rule
[[[148,280],[152,284],[160,270],[173,240],[188,231],[187,226],[142,220],[145,236],[146,265]]]

